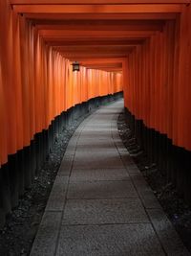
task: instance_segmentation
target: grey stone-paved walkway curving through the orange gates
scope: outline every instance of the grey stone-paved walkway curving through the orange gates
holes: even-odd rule
[[[119,138],[122,105],[74,132],[31,256],[190,255]]]

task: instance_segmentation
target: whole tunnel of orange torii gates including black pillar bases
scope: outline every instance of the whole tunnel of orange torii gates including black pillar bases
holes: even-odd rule
[[[0,0],[1,219],[74,109],[122,90],[139,144],[190,200],[190,2]]]

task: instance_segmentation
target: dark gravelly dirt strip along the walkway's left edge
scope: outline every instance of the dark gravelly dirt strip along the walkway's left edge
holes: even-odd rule
[[[59,169],[62,157],[75,128],[84,118],[74,121],[70,129],[66,128],[53,145],[52,153],[44,164],[31,189],[20,198],[19,205],[7,218],[7,224],[0,230],[0,256],[30,255],[32,243],[42,219],[53,181]]]

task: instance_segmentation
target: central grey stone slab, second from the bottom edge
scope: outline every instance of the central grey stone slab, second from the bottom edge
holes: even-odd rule
[[[145,223],[148,217],[138,198],[69,199],[63,224]]]

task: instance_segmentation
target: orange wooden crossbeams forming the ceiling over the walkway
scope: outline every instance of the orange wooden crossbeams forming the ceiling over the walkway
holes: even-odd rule
[[[63,57],[114,72],[187,4],[190,0],[11,0],[13,10]]]

